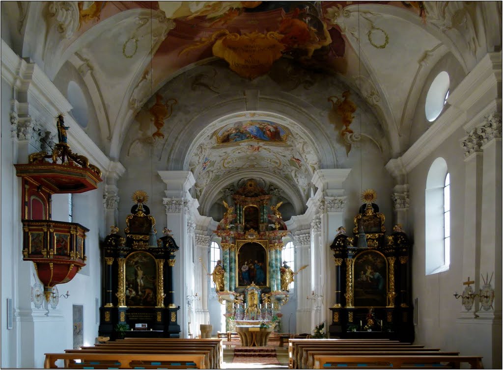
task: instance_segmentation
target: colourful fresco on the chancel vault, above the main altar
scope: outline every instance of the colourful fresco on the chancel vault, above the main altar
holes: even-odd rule
[[[240,141],[269,141],[284,143],[288,134],[275,122],[266,120],[238,121],[222,127],[216,134],[219,144]]]

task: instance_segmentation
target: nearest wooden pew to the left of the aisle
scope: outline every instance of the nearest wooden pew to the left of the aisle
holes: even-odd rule
[[[202,354],[114,354],[114,353],[45,353],[44,368],[58,368],[57,360],[64,360],[64,368],[206,368]],[[74,360],[82,362],[77,363]]]

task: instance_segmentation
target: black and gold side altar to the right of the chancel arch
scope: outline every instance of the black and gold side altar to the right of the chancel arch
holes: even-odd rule
[[[330,245],[336,263],[331,338],[413,342],[411,244],[400,225],[385,232],[384,215],[367,203],[355,217],[354,237],[340,230]]]

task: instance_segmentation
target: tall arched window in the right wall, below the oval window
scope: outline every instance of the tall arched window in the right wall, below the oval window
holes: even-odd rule
[[[444,158],[433,161],[426,180],[426,274],[449,269],[451,246],[450,176]]]

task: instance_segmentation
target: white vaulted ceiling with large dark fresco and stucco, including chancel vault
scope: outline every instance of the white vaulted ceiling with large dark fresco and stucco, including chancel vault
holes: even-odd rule
[[[313,171],[340,164],[362,132],[388,158],[403,153],[423,79],[435,63],[450,53],[468,73],[500,45],[501,32],[498,2],[2,2],[2,11],[17,53],[50,79],[66,63],[78,71],[112,159],[134,151],[138,140],[157,142],[159,160],[171,160],[168,169],[193,171],[198,196],[212,184],[228,186],[231,180],[221,179],[238,169],[241,177],[263,171],[263,178],[294,180],[292,204],[305,201]],[[223,68],[235,77],[224,77]],[[187,75],[190,85],[179,78]],[[308,90],[324,88],[320,76],[336,81],[328,89],[337,85],[313,95],[333,108],[323,119],[305,107],[319,103],[309,101]],[[229,80],[233,89],[226,88]],[[273,84],[277,89],[268,90]],[[211,98],[203,103],[194,95],[192,102],[201,99],[206,108],[192,103],[184,113],[193,118],[187,124],[177,118],[177,125],[170,119],[183,107],[184,89],[202,89]],[[344,91],[350,93],[346,106]],[[280,108],[285,101],[289,113]],[[156,102],[163,112],[153,113]],[[348,112],[355,114],[349,123]],[[362,131],[362,114],[373,128]],[[142,122],[155,120],[159,134],[152,136]],[[250,120],[283,134],[278,140],[249,136]],[[327,125],[337,132],[327,133]],[[131,136],[138,127],[142,136]],[[184,133],[187,127],[194,131]],[[248,136],[222,143],[232,127]],[[174,137],[188,141],[177,144]]]

